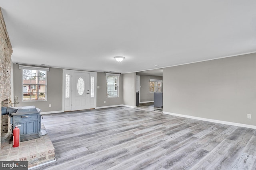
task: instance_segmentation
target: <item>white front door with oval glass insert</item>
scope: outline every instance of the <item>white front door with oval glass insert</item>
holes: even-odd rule
[[[89,109],[89,73],[72,72],[72,111]]]

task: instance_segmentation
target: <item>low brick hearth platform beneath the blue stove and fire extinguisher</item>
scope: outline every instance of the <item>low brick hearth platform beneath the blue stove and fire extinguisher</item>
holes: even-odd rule
[[[41,129],[45,129],[42,124]],[[0,160],[28,161],[28,168],[55,160],[54,147],[48,134],[37,139],[20,142],[13,148],[9,141],[2,141]]]

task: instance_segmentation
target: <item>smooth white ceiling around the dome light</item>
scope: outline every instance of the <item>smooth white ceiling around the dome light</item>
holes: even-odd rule
[[[127,73],[256,51],[256,0],[0,0],[0,6],[14,63]]]

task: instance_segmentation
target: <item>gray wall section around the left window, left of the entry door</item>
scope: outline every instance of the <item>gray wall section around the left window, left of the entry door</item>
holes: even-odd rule
[[[14,82],[14,94],[18,96],[18,107],[20,106],[36,106],[46,111],[60,111],[62,110],[62,69],[50,68],[47,73],[47,101],[34,101],[34,102],[22,102],[22,70],[19,69],[18,64],[13,64],[13,82]],[[13,101],[12,101],[13,102]],[[49,107],[49,104],[52,107]]]

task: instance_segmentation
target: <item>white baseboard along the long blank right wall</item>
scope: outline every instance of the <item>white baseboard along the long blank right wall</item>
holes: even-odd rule
[[[202,121],[210,121],[210,122],[214,122],[214,123],[221,123],[221,124],[224,124],[224,125],[232,125],[232,126],[240,126],[240,127],[256,129],[256,126],[254,126],[254,125],[246,125],[246,124],[242,124],[242,123],[234,123],[234,122],[229,122],[229,121],[207,119],[207,118],[195,117],[195,116],[190,116],[190,115],[182,115],[182,114],[177,114],[177,113],[170,113],[170,112],[166,112],[166,111],[163,111],[163,113],[164,114],[168,114],[168,115],[186,117],[186,118],[190,118],[190,119],[197,119],[197,120],[202,120]]]

